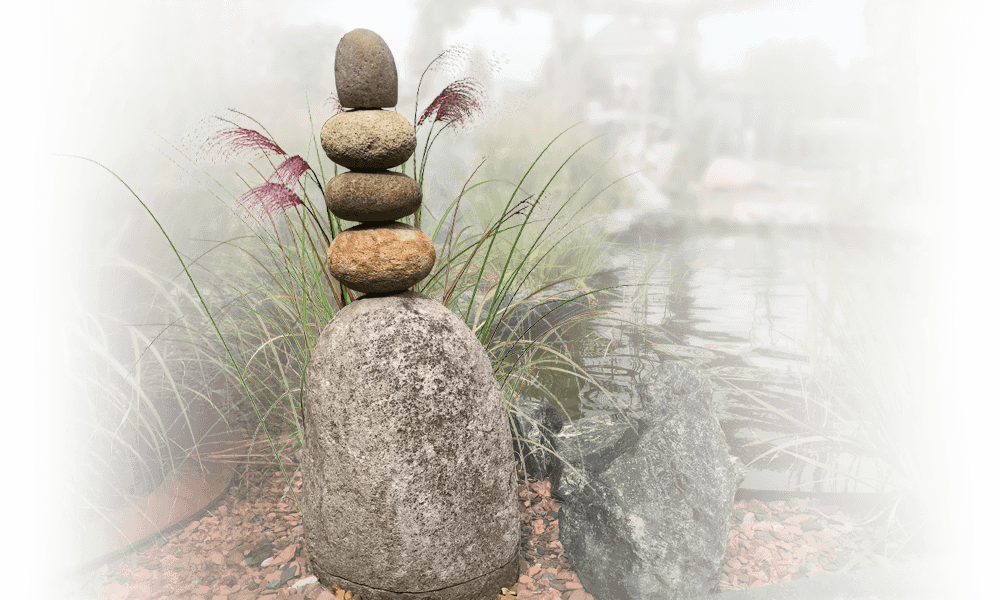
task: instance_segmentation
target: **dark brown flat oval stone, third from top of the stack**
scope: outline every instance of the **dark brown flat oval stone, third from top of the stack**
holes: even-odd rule
[[[417,181],[394,171],[348,171],[326,185],[326,206],[348,221],[395,221],[420,208],[424,194]]]

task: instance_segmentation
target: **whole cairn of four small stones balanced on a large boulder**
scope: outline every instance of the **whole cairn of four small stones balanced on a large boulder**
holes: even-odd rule
[[[517,579],[519,514],[503,396],[482,344],[440,302],[412,291],[434,267],[426,234],[396,219],[417,182],[389,171],[416,149],[396,62],[375,32],[337,47],[344,112],[323,126],[328,208],[361,224],[327,253],[363,295],[330,321],[307,371],[305,546],[324,585],[364,600],[493,599]]]

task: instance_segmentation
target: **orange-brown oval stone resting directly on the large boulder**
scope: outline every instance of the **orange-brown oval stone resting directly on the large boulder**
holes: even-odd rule
[[[345,229],[326,252],[330,274],[363,294],[410,289],[430,274],[436,256],[426,233],[397,221]]]

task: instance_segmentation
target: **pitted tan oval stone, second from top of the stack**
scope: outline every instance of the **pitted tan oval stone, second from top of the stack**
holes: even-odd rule
[[[403,115],[388,110],[350,110],[330,117],[320,132],[333,162],[355,171],[382,171],[405,163],[417,133]]]

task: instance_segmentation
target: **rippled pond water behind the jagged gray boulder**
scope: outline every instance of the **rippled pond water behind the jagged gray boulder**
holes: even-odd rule
[[[693,235],[614,248],[618,254],[614,265],[623,269],[608,291],[622,298],[601,297],[601,308],[613,314],[574,325],[563,335],[573,359],[610,396],[577,378],[543,375],[541,379],[561,400],[564,413],[575,419],[637,405],[636,381],[662,360],[684,356],[804,419],[798,375],[808,373],[809,365],[800,343],[806,341],[812,309],[809,289],[789,259],[801,265],[825,298],[831,252],[838,253],[838,266],[832,268],[844,271],[848,285],[891,268],[892,257],[880,249],[886,245],[871,242],[862,243],[867,246],[863,248],[850,240],[782,234]],[[643,296],[638,289],[646,276],[648,296]],[[623,323],[628,317],[653,331]],[[725,407],[720,420],[730,451],[744,463],[766,449],[744,446],[754,441],[754,434],[766,439],[798,431],[718,380],[715,390],[715,400]],[[527,395],[534,396],[530,391]],[[742,487],[784,489],[794,483],[789,474],[797,468],[790,457],[780,455],[766,468],[752,469]],[[810,467],[792,479],[802,483],[818,474]]]

